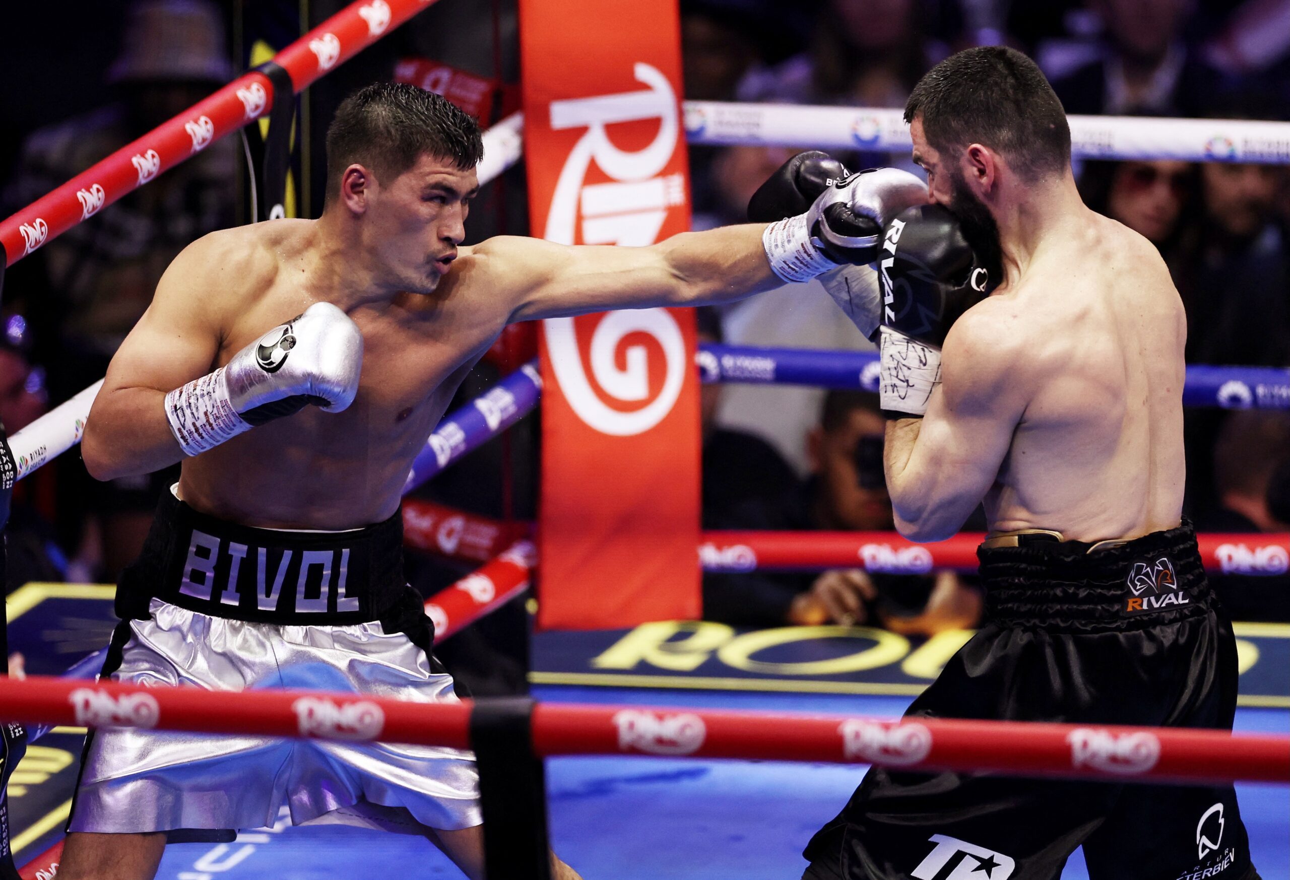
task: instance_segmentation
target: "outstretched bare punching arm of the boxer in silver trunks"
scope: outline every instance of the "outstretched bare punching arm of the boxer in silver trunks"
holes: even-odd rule
[[[568,246],[501,236],[472,249],[512,321],[609,308],[702,306],[783,284],[761,243],[765,225],[682,232],[648,248]],[[482,280],[482,279],[481,279]]]

